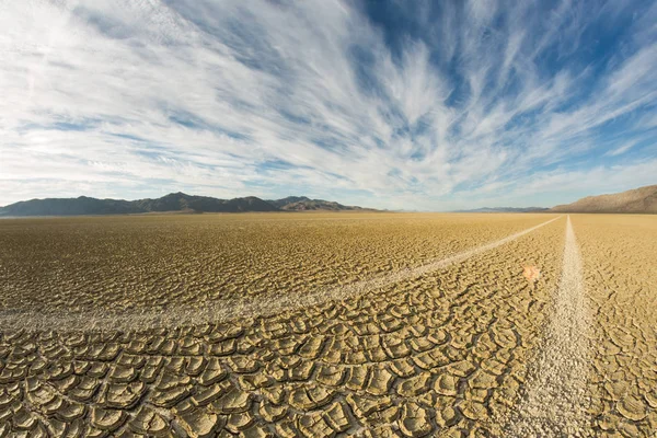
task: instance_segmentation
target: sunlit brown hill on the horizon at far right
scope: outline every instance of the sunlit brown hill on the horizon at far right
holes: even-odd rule
[[[556,206],[551,211],[657,214],[657,185],[612,195],[587,196],[573,204]]]

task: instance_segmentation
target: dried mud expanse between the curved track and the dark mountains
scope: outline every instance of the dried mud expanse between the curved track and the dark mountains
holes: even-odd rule
[[[245,214],[0,221],[0,311],[290,296],[412,268],[553,215]]]

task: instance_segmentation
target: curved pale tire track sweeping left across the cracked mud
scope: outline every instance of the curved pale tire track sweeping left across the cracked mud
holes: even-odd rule
[[[143,310],[120,313],[90,311],[87,313],[44,314],[34,311],[3,310],[0,311],[0,330],[141,330],[185,324],[219,323],[239,318],[267,316],[295,311],[327,301],[339,301],[358,297],[399,281],[417,278],[425,274],[442,269],[517,240],[562,217],[558,216],[497,241],[457,253],[447,258],[433,261],[418,267],[400,269],[349,285],[318,288],[304,296],[290,296],[285,291],[276,291],[256,298],[222,300],[211,303],[205,309],[184,309],[177,307],[175,309],[162,309],[159,311]]]

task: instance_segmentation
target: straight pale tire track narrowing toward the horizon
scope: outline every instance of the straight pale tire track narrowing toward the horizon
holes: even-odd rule
[[[509,437],[585,437],[591,314],[583,263],[568,216],[563,270],[551,319],[521,400],[507,422]]]

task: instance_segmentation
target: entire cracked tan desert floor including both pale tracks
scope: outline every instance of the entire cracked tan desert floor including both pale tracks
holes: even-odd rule
[[[657,433],[657,218],[0,220],[0,437]]]

